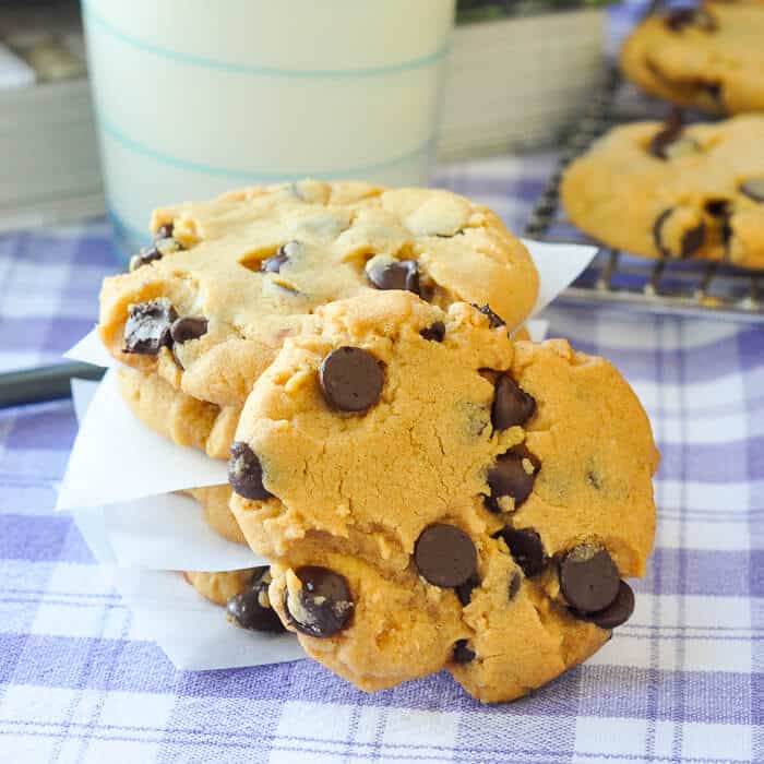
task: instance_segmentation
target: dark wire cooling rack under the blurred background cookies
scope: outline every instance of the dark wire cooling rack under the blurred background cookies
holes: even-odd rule
[[[764,323],[764,272],[721,262],[638,258],[600,244],[565,219],[560,205],[560,179],[565,167],[613,124],[666,116],[665,103],[637,93],[612,71],[570,134],[554,172],[536,201],[525,235],[541,241],[598,247],[589,267],[563,293],[564,301]],[[685,112],[689,122],[703,119],[707,118]]]

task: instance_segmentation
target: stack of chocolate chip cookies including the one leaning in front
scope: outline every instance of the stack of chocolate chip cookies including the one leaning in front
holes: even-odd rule
[[[229,459],[190,492],[270,565],[186,577],[235,625],[294,632],[365,690],[445,668],[502,701],[631,616],[649,423],[607,361],[510,332],[538,275],[493,213],[305,181],[153,230],[99,333],[144,423]]]

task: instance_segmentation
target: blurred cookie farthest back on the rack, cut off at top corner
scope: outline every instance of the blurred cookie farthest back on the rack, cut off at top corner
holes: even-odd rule
[[[764,111],[764,2],[719,0],[645,19],[621,49],[648,93],[711,114]]]

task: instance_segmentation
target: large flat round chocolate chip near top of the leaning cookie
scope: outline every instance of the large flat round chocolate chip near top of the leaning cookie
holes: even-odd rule
[[[360,347],[338,347],[321,361],[321,390],[341,411],[365,411],[382,394],[384,373],[379,361]]]

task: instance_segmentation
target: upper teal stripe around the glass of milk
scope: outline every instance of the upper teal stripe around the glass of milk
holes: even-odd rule
[[[272,0],[272,2],[277,2],[277,0]],[[184,53],[180,50],[171,50],[169,48],[163,48],[162,46],[154,45],[153,43],[147,43],[146,40],[134,37],[121,29],[117,28],[108,21],[98,15],[88,0],[82,0],[83,13],[87,16],[87,21],[99,26],[108,35],[118,39],[124,45],[130,45],[138,50],[143,50],[147,53],[153,53],[154,56],[162,56],[172,61],[178,61],[180,63],[188,63],[193,67],[204,67],[206,69],[219,69],[226,72],[234,72],[237,74],[252,74],[255,76],[270,76],[270,77],[291,77],[291,79],[324,79],[324,80],[347,80],[354,77],[372,77],[381,76],[385,74],[396,74],[398,72],[408,72],[415,69],[422,69],[425,67],[430,67],[443,59],[449,52],[449,45],[435,50],[429,56],[423,56],[422,58],[411,59],[410,61],[402,61],[401,63],[393,63],[386,67],[369,67],[367,69],[274,69],[272,67],[253,67],[246,63],[236,63],[235,61],[219,61],[217,59],[205,58],[204,56],[195,56],[194,53]]]

